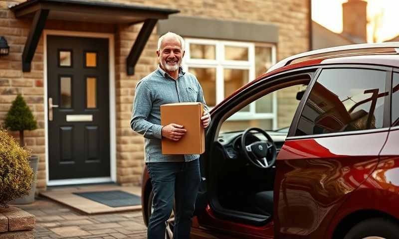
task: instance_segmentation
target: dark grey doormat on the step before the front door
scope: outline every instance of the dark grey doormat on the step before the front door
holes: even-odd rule
[[[139,196],[119,190],[83,192],[83,193],[73,193],[73,194],[93,200],[98,203],[105,204],[113,208],[135,206],[141,204],[141,198]]]

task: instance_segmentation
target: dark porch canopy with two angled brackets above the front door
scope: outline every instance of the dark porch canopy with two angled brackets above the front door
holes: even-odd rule
[[[26,0],[9,7],[16,18],[33,18],[32,26],[22,53],[22,71],[29,72],[42,30],[47,19],[136,24],[144,22],[129,56],[126,71],[134,75],[134,67],[158,19],[167,19],[179,10],[145,5],[87,0]]]

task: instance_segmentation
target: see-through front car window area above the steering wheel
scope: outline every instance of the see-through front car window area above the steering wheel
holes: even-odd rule
[[[220,133],[241,131],[249,127],[263,130],[289,127],[305,90],[306,85],[294,85],[255,100],[225,120]]]

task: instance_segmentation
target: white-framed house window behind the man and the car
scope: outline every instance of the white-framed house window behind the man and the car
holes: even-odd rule
[[[212,108],[275,64],[275,46],[249,42],[185,39],[184,68],[199,80],[206,104]],[[229,120],[265,117],[277,128],[277,95],[256,101]],[[258,105],[257,105],[258,104]],[[269,107],[267,107],[269,106]]]

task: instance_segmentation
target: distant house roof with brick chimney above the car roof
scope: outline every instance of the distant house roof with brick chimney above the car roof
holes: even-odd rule
[[[367,42],[367,1],[348,0],[342,3],[341,33],[335,33],[312,21],[312,49]]]

